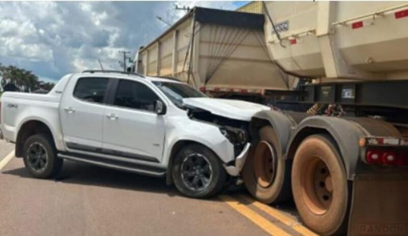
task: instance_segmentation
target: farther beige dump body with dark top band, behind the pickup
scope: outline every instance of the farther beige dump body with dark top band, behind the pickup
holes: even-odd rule
[[[293,79],[270,60],[263,25],[262,14],[196,7],[139,51],[139,72],[201,90],[286,91]]]

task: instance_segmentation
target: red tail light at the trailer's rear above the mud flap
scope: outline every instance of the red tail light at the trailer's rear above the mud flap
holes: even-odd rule
[[[408,153],[387,149],[369,149],[366,152],[366,161],[375,165],[408,166]]]

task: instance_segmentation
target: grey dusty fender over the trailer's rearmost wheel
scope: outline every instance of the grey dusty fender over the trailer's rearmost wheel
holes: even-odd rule
[[[385,121],[371,118],[310,116],[303,119],[290,138],[287,159],[293,159],[297,147],[308,136],[329,134],[342,155],[347,178],[353,180],[361,156],[359,141],[367,136],[396,136],[398,131]]]

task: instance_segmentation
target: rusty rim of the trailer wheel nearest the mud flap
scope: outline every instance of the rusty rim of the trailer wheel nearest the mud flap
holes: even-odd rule
[[[302,173],[303,197],[306,205],[316,215],[325,214],[333,198],[330,171],[322,159],[314,156],[306,162]]]

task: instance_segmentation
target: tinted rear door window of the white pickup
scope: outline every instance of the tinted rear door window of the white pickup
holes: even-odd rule
[[[108,82],[108,78],[80,78],[73,95],[82,100],[103,103]]]

